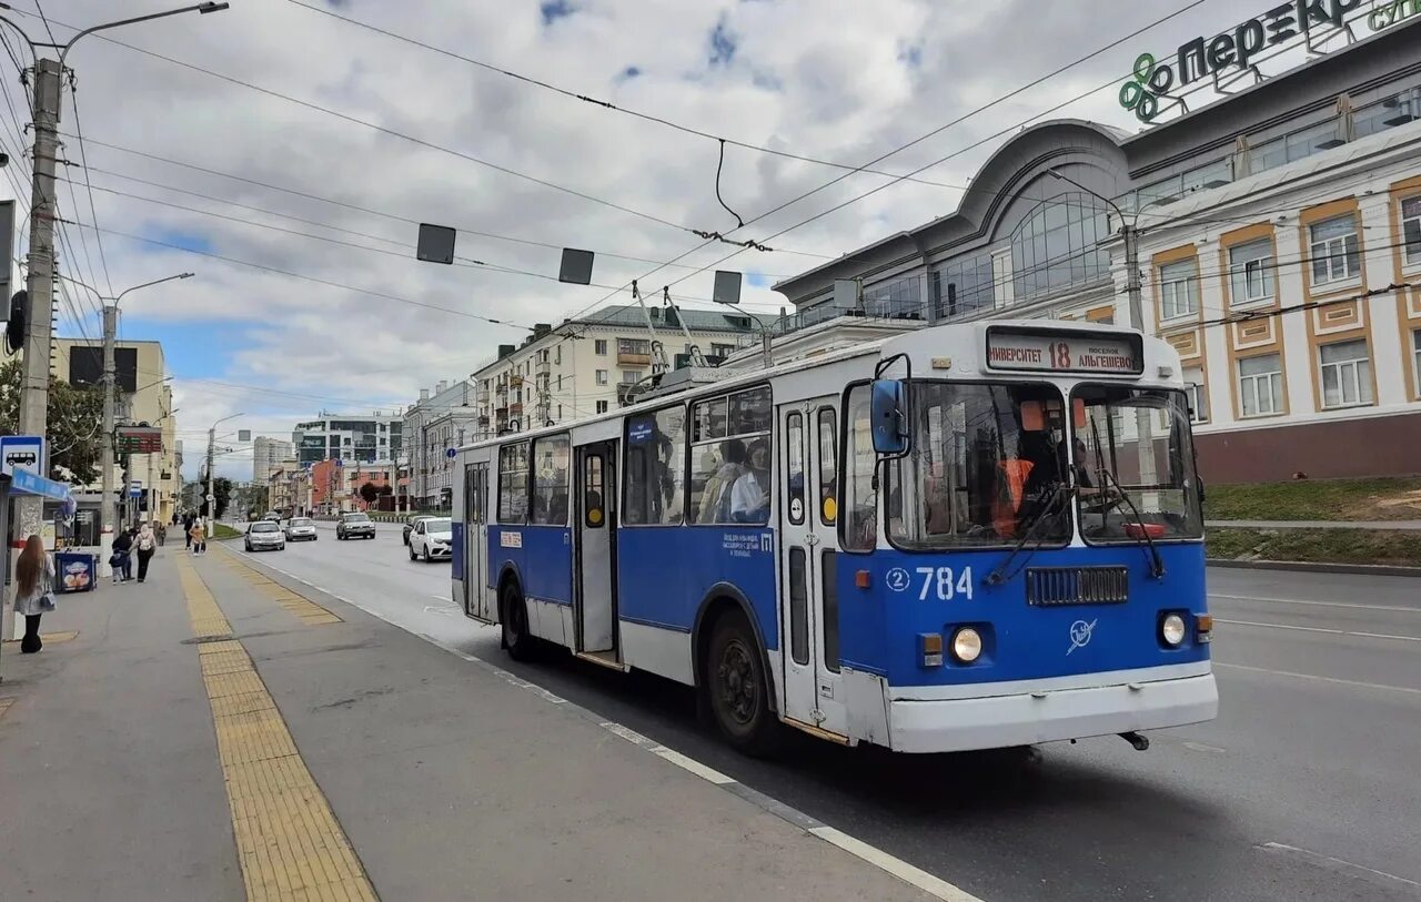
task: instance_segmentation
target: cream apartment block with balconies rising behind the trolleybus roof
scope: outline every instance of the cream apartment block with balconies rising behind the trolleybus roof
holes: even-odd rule
[[[735,310],[651,307],[649,313],[671,366],[686,362],[691,344],[710,361],[729,357],[767,322]],[[536,325],[523,344],[502,345],[497,358],[469,376],[476,408],[469,440],[605,413],[651,375],[652,358],[652,337],[635,304],[557,327]]]

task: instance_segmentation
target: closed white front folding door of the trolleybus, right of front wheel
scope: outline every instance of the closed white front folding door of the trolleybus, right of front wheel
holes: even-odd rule
[[[779,411],[780,652],[784,716],[845,736],[834,567],[837,398]]]

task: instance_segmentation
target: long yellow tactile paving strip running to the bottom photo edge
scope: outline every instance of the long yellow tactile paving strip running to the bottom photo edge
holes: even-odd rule
[[[202,680],[217,730],[249,902],[375,902],[355,849],[240,642],[192,564],[179,561],[198,638]],[[219,631],[220,628],[220,631]]]

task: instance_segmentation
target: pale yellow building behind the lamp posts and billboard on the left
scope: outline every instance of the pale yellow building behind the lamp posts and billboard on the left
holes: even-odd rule
[[[51,372],[70,385],[101,386],[104,379],[104,347],[99,341],[84,338],[55,338],[51,355]],[[117,384],[117,422],[119,425],[142,425],[162,429],[163,450],[151,455],[128,455],[128,470],[124,462],[115,463],[114,486],[142,483],[142,494],[136,499],[138,511],[155,520],[169,520],[176,509],[178,474],[178,420],[173,419],[173,393],[168,381],[163,347],[156,341],[119,341],[114,345],[114,378]],[[85,493],[95,493],[101,479],[91,486],[77,486]]]

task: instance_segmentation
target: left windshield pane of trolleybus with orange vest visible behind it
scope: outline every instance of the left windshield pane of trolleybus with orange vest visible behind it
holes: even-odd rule
[[[915,381],[909,395],[912,452],[888,480],[894,544],[1070,538],[1067,423],[1056,388]]]

